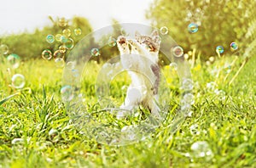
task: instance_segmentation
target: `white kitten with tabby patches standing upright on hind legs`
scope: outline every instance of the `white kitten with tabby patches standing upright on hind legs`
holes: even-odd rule
[[[131,109],[142,104],[152,115],[160,116],[158,106],[158,87],[160,84],[160,67],[158,65],[160,37],[158,31],[150,36],[138,32],[135,38],[119,36],[117,46],[123,68],[131,76],[125,102],[121,105],[117,118],[129,115]]]

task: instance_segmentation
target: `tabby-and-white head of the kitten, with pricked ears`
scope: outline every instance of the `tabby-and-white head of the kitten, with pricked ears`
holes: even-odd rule
[[[153,31],[150,36],[142,36],[138,32],[135,34],[135,38],[144,48],[150,53],[158,53],[160,49],[160,36],[158,31]]]

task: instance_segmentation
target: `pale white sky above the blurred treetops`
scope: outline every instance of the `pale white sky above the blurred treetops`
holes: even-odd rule
[[[149,25],[145,12],[154,0],[5,0],[0,5],[0,35],[50,25],[48,16],[83,16],[97,30],[111,25],[111,20],[120,23]]]

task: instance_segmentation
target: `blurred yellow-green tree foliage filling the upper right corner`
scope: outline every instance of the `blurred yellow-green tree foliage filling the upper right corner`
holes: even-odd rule
[[[185,51],[196,48],[207,59],[216,54],[218,45],[224,53],[230,53],[231,42],[237,42],[240,50],[247,48],[253,40],[246,35],[255,20],[255,8],[255,0],[155,0],[146,16],[153,26],[167,26]],[[199,25],[199,31],[190,33],[190,23]]]

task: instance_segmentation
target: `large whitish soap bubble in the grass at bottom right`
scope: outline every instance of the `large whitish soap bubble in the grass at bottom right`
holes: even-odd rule
[[[212,149],[206,141],[198,141],[191,145],[191,150],[195,158],[211,159],[213,157]]]

